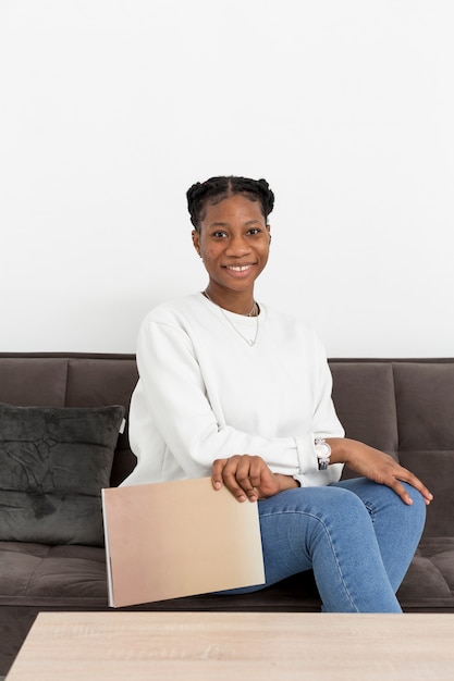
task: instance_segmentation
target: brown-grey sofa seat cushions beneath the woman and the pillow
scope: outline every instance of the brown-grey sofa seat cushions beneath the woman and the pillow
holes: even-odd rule
[[[100,547],[0,542],[0,607],[108,609],[106,552]],[[397,597],[407,612],[453,610],[453,537],[422,540]],[[320,607],[312,572],[307,571],[253,593],[200,594],[125,609],[319,611]]]

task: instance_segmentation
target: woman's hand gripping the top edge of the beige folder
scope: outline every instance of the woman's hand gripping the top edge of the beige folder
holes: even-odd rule
[[[261,457],[248,454],[217,459],[211,480],[214,490],[225,485],[238,502],[257,502],[298,486],[292,476],[273,473]]]

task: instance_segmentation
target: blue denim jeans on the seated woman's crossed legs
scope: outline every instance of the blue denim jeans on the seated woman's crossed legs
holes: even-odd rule
[[[402,612],[395,592],[426,520],[426,504],[403,483],[408,506],[366,478],[299,487],[258,502],[266,584],[314,570],[326,612]]]

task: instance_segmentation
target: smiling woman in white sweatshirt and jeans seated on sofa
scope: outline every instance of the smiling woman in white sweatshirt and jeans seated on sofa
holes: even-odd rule
[[[208,285],[144,321],[126,484],[211,475],[216,490],[258,503],[267,585],[312,569],[324,611],[402,611],[395,592],[432,495],[390,456],[344,437],[321,344],[256,301],[268,183],[213,177],[187,201]],[[340,482],[344,463],[361,476]]]

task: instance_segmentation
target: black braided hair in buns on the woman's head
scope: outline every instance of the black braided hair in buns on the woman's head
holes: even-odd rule
[[[250,201],[259,201],[261,212],[268,224],[268,215],[274,206],[274,194],[266,179],[249,179],[234,175],[210,177],[206,182],[197,182],[186,191],[187,209],[191,222],[199,231],[199,224],[205,216],[207,203],[216,205],[233,194],[243,194]]]

